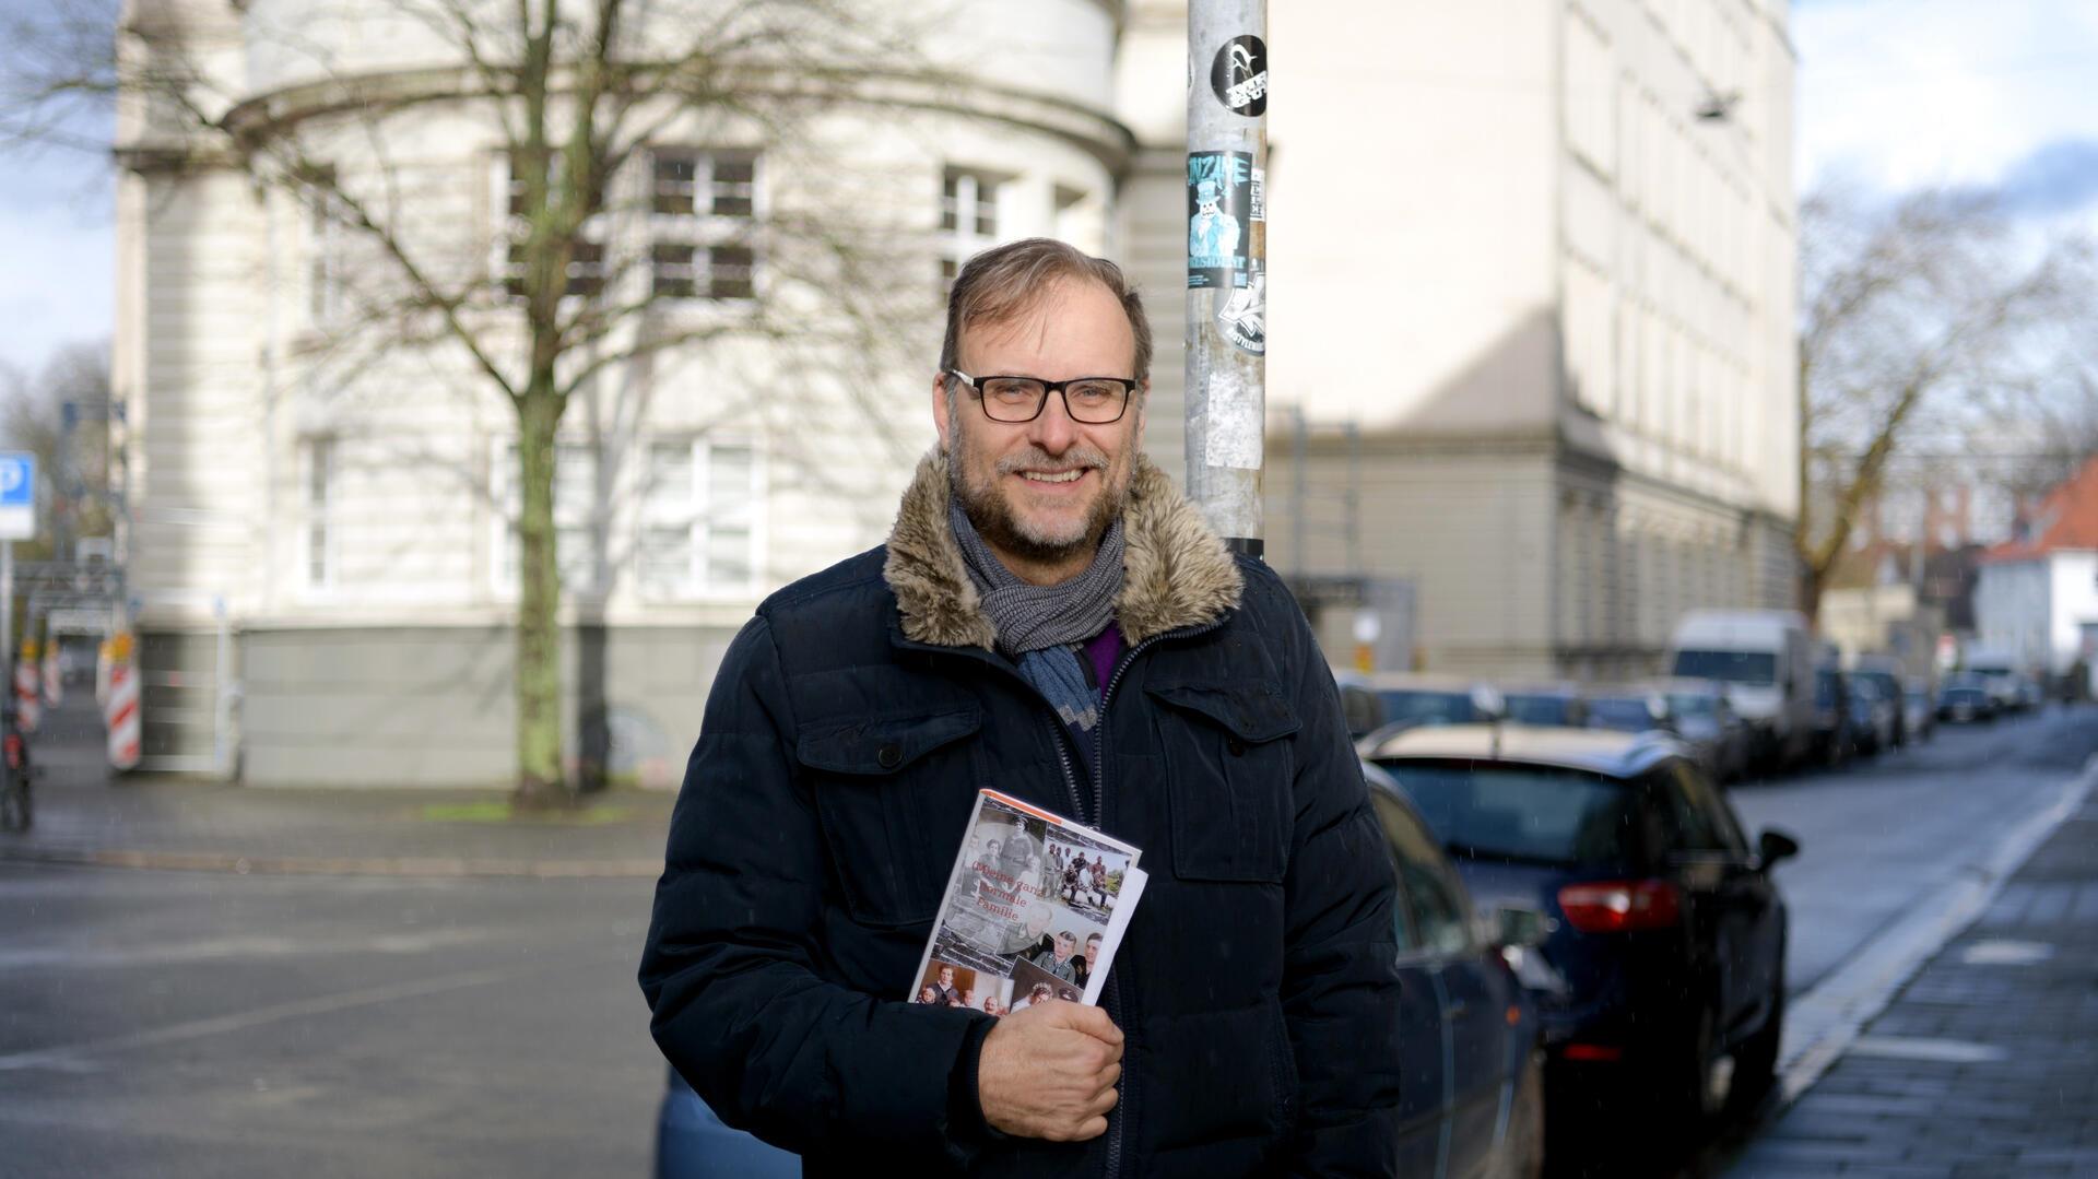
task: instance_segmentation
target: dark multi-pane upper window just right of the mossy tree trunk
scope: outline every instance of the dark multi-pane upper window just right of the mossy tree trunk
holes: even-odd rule
[[[757,294],[757,155],[659,147],[650,164],[648,275],[657,298]]]

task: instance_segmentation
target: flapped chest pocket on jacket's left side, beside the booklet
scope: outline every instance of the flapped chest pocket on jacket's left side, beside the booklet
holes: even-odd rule
[[[810,728],[797,738],[854,921],[917,925],[940,908],[948,864],[934,862],[925,808],[976,793],[976,749],[965,738],[980,728],[978,709],[957,709]]]

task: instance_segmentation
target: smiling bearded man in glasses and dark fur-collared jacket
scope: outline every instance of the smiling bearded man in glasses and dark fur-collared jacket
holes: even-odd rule
[[[715,678],[642,990],[808,1175],[1395,1166],[1362,770],[1280,579],[1143,457],[1150,359],[1112,262],[971,258],[890,541],[768,598]],[[1143,848],[1101,1007],[904,1003],[982,787]]]

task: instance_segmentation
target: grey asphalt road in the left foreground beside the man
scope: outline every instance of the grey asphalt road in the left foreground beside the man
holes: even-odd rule
[[[0,1175],[646,1175],[648,894],[0,864]]]

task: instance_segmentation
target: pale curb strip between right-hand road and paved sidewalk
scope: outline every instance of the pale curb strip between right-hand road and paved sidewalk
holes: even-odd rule
[[[2033,852],[2098,789],[2098,755],[2067,780],[2056,799],[2020,822],[1987,860],[1867,940],[1850,959],[1792,1001],[1779,1049],[1777,1103],[1783,1112],[1857,1043],[1865,1024],[1886,1011],[1947,942],[1972,925]]]

